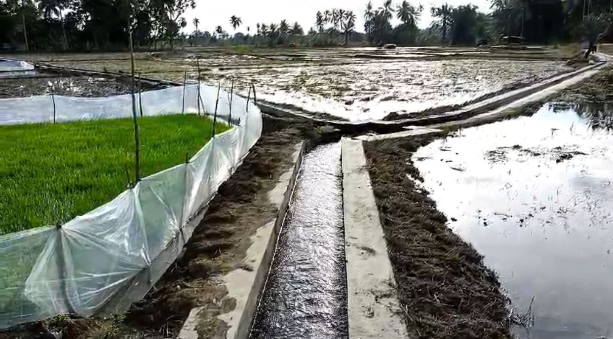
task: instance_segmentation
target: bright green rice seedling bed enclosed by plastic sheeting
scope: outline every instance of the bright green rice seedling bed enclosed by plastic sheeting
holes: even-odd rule
[[[213,123],[177,114],[139,125],[144,177],[194,155]],[[65,223],[123,192],[126,169],[134,178],[133,129],[131,118],[0,127],[0,234]]]

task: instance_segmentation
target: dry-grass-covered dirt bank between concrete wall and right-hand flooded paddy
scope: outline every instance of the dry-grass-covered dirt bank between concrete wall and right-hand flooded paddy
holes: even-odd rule
[[[432,140],[365,144],[370,177],[411,338],[511,338],[508,298],[482,256],[447,228],[411,155]]]

